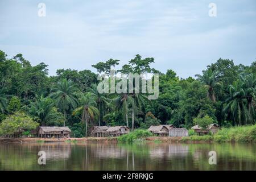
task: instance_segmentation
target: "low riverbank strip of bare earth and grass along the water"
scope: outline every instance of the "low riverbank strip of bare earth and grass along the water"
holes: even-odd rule
[[[212,143],[212,142],[256,142],[256,125],[222,128],[215,135],[192,135],[189,137],[155,137],[147,130],[134,130],[121,137],[84,138],[0,138],[4,143],[25,142],[167,142],[167,143]]]

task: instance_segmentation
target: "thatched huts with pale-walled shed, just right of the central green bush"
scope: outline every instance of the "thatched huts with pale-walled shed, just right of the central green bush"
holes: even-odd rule
[[[176,128],[174,125],[150,126],[151,133],[159,137],[188,137],[188,130],[185,128]]]

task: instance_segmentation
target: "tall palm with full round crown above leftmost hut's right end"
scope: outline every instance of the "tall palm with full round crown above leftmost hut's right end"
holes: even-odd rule
[[[72,80],[64,79],[57,82],[52,88],[50,97],[56,101],[57,107],[64,114],[64,126],[67,121],[67,111],[77,107],[77,92],[79,90],[74,86]]]

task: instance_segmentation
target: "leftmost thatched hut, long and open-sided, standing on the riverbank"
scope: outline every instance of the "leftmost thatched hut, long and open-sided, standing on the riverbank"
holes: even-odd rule
[[[71,129],[57,126],[40,126],[38,129],[38,137],[68,137],[71,135]]]

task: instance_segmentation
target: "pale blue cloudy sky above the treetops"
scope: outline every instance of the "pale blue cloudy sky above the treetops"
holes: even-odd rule
[[[208,15],[209,3],[217,5],[216,17]],[[256,1],[0,0],[0,49],[48,64],[50,75],[60,68],[96,72],[98,61],[126,64],[140,54],[186,78],[220,57],[256,60]]]

